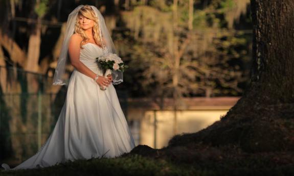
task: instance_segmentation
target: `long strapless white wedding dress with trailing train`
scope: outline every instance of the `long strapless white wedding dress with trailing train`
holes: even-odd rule
[[[104,49],[86,43],[80,61],[102,76],[95,58]],[[128,153],[135,146],[127,121],[112,84],[100,90],[93,79],[74,69],[65,103],[55,128],[39,151],[14,168],[6,170],[48,167],[67,160],[114,158]]]

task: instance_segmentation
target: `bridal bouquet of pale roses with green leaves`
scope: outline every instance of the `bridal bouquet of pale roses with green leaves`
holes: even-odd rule
[[[122,59],[117,55],[113,53],[105,53],[99,58],[96,58],[96,63],[100,64],[102,66],[104,77],[107,78],[107,76],[110,74],[112,70],[119,70],[124,71],[125,68],[127,68],[127,65],[124,65],[124,62]],[[101,88],[101,90],[106,90]]]

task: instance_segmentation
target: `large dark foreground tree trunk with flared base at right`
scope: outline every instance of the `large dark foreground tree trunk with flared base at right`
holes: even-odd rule
[[[251,85],[225,117],[178,135],[170,146],[203,142],[236,145],[246,152],[294,151],[294,1],[252,0]]]

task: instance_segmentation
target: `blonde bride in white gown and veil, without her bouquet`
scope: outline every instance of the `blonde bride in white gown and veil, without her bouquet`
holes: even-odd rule
[[[67,19],[54,85],[64,85],[63,73],[69,53],[74,71],[66,99],[53,132],[39,151],[14,168],[48,167],[67,160],[114,158],[135,146],[113,84],[123,82],[123,73],[112,70],[103,77],[95,58],[116,53],[105,21],[94,6],[78,6]],[[100,86],[106,87],[101,90]]]

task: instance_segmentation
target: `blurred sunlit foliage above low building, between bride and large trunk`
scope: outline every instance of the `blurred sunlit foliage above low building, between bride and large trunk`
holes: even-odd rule
[[[228,20],[240,17],[242,11],[235,11],[239,6],[244,8],[248,1],[195,1],[191,32],[187,30],[188,1],[179,1],[176,30],[171,13],[173,4],[152,2],[157,4],[134,6],[130,13],[123,15],[130,31],[117,38],[122,57],[130,65],[129,77],[135,77],[132,83],[142,85],[144,91],[140,94],[172,96],[176,89],[179,96],[241,95],[249,80],[251,34],[230,29],[232,21]],[[232,11],[236,13],[234,18],[227,19],[226,14]],[[184,48],[187,39],[190,41]],[[176,49],[183,50],[179,68],[175,67]],[[176,88],[175,75],[179,80]]]

